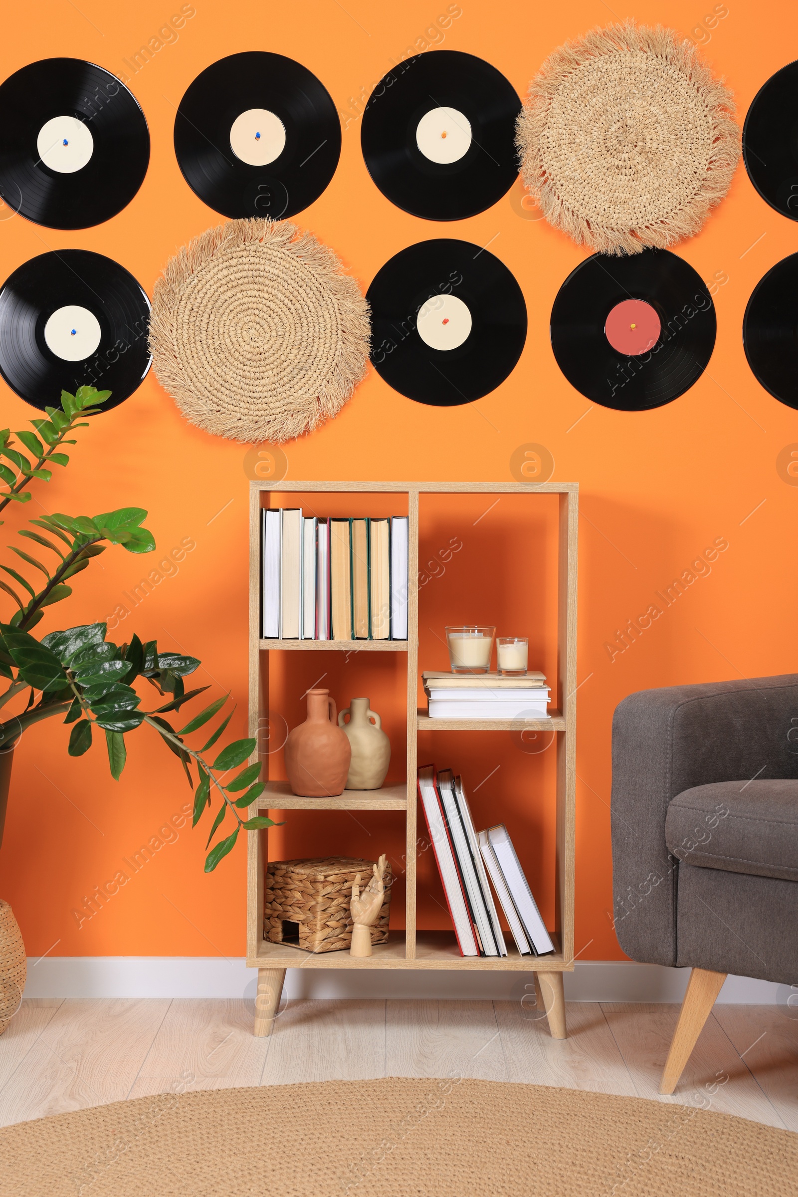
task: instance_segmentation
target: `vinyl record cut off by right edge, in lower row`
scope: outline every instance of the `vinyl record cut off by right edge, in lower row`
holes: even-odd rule
[[[798,254],[776,262],[754,287],[743,346],[765,389],[798,409]]]

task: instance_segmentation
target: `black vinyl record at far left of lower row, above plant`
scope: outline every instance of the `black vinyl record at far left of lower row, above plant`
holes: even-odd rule
[[[123,266],[87,249],[31,257],[0,288],[0,373],[22,399],[57,406],[97,387],[116,407],[150,369],[150,300]]]

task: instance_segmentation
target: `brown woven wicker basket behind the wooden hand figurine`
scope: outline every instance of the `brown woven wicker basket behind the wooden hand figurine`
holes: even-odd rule
[[[328,856],[315,861],[269,861],[264,879],[263,937],[305,952],[340,952],[352,943],[352,883],[361,888],[372,876],[372,861]],[[383,877],[385,897],[371,942],[388,940],[391,867]],[[286,925],[288,924],[288,925]],[[291,925],[293,924],[293,925]]]

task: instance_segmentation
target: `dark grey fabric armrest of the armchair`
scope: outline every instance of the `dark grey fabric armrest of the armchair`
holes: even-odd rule
[[[675,965],[678,862],[665,815],[682,790],[798,777],[798,674],[629,694],[613,717],[615,934],[633,960]]]

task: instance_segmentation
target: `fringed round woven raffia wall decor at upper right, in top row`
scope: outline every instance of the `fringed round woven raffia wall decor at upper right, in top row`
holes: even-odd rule
[[[543,63],[518,116],[524,186],[549,224],[605,254],[699,232],[739,160],[735,104],[692,42],[634,22]]]

